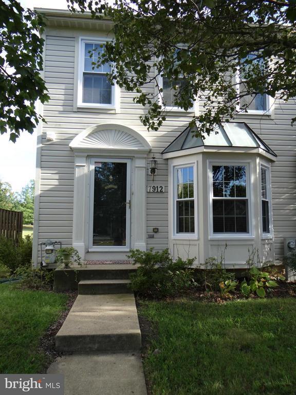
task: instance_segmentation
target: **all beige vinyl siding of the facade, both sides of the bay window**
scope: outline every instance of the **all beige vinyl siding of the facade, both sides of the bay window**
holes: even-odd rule
[[[147,247],[163,249],[168,246],[168,163],[161,158],[161,151],[183,131],[193,113],[170,112],[157,132],[147,132],[139,116],[145,113],[141,105],[133,102],[134,94],[120,94],[120,112],[114,110],[75,109],[76,53],[78,38],[89,37],[99,32],[75,29],[55,30],[47,28],[45,47],[45,81],[50,101],[44,105],[41,151],[40,227],[39,243],[52,238],[63,245],[72,242],[72,209],[74,155],[69,149],[70,141],[91,125],[113,120],[130,125],[141,133],[153,147],[158,160],[156,185],[165,185],[165,193],[147,193],[147,234],[158,227],[158,234],[147,239]],[[147,92],[154,92],[153,83]],[[290,119],[296,116],[294,101],[275,105],[274,116],[245,115],[237,117],[249,126],[279,155],[272,165],[272,206],[275,235],[275,254],[283,254],[283,238],[296,237],[296,127]],[[200,107],[202,111],[202,107]],[[55,141],[46,140],[46,132],[55,132]],[[147,184],[152,184],[147,162]]]

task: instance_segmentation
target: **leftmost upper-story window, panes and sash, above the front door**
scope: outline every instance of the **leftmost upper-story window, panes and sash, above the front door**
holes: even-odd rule
[[[81,40],[78,81],[78,106],[114,107],[115,89],[107,79],[110,64],[97,67],[97,61],[104,51],[104,42]]]

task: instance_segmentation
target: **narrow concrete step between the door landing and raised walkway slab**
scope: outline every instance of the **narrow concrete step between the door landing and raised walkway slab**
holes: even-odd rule
[[[78,283],[79,295],[126,294],[131,293],[128,284],[131,280],[81,280]]]

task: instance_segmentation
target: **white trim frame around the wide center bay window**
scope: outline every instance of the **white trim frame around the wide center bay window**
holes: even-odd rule
[[[246,166],[246,199],[248,199],[248,220],[249,220],[249,233],[214,233],[213,232],[213,173],[212,166]],[[209,212],[209,240],[248,240],[254,239],[253,228],[253,183],[252,183],[252,161],[251,160],[208,160],[208,212]]]

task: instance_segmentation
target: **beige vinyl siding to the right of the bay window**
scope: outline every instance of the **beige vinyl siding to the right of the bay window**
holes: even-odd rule
[[[296,238],[296,103],[289,100],[274,105],[272,116],[240,115],[278,155],[271,166],[272,210],[275,258],[284,254],[284,238]]]

